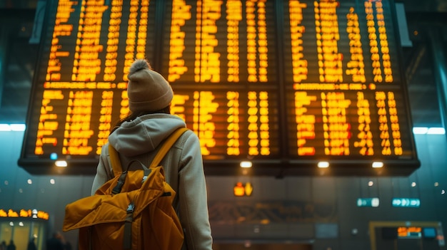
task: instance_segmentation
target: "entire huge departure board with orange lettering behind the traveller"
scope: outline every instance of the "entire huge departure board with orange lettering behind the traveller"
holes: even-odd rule
[[[206,173],[408,175],[413,141],[392,1],[47,1],[19,165],[94,173],[146,58]]]

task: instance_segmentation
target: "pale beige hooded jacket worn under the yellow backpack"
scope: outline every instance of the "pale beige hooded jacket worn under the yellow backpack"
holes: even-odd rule
[[[121,166],[127,166],[134,159],[149,166],[161,142],[179,127],[186,127],[186,124],[174,115],[141,115],[122,123],[109,135],[108,143],[119,152]],[[191,130],[184,132],[160,165],[164,167],[166,182],[176,191],[173,207],[184,228],[186,244],[183,249],[212,249],[199,137]],[[113,177],[109,145],[106,144],[101,150],[91,194]]]

